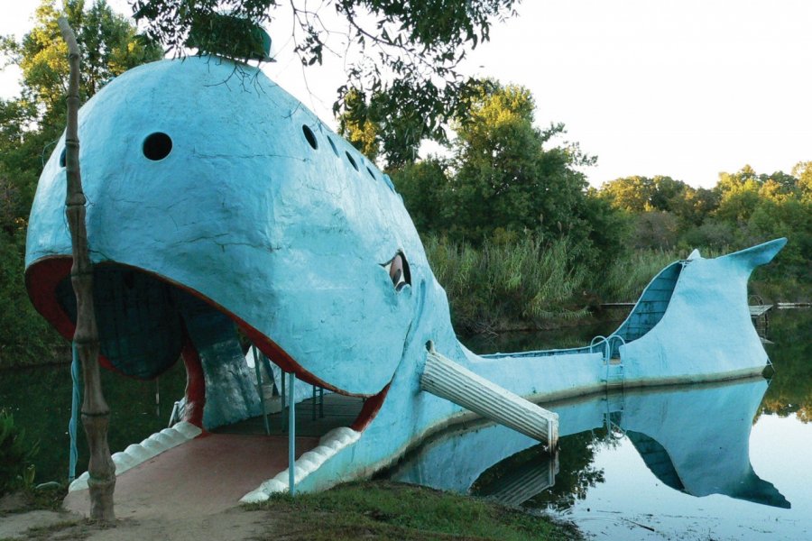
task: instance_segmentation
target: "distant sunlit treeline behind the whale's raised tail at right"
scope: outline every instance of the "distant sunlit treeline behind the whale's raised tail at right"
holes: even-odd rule
[[[789,244],[769,276],[812,280],[812,168],[758,173],[745,165],[723,172],[712,189],[691,188],[669,177],[627,177],[607,182],[597,196],[628,213],[632,245],[733,250],[786,236]]]

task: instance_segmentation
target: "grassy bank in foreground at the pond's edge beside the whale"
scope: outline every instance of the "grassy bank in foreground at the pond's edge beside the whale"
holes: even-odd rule
[[[559,525],[493,502],[424,487],[365,481],[260,504],[281,521],[264,539],[579,539]]]

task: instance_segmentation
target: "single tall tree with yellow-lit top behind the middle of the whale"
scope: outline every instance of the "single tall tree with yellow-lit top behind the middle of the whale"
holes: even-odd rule
[[[449,233],[480,242],[501,228],[560,237],[583,224],[586,177],[594,163],[576,144],[550,146],[563,124],[533,125],[535,102],[524,87],[481,87],[457,118],[457,142],[443,208]]]

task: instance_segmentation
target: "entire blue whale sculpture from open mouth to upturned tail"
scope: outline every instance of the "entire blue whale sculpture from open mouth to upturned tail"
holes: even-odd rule
[[[352,426],[296,462],[298,490],[374,472],[472,409],[512,400],[546,418],[554,445],[555,416],[532,401],[732,379],[768,362],[746,283],[784,239],[671,264],[589,346],[477,356],[457,341],[392,181],[259,70],[200,57],[132,69],[81,108],[79,138],[106,367],[151,379],[182,356],[187,423],[252,417],[259,400],[236,326],[300,380],[366,399]],[[70,338],[63,149],[32,206],[26,285]],[[454,371],[427,377],[439,361]],[[467,395],[449,399],[456,378]],[[490,409],[477,409],[483,393]],[[286,490],[282,479],[245,500]]]

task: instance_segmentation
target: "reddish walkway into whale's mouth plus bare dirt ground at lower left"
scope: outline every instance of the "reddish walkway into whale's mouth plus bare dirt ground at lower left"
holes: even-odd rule
[[[297,457],[318,444],[314,437],[296,439]],[[0,516],[0,540],[262,538],[274,523],[272,513],[245,510],[239,500],[287,467],[287,437],[198,437],[117,477],[115,527],[89,524],[88,491],[73,491],[64,511]]]

